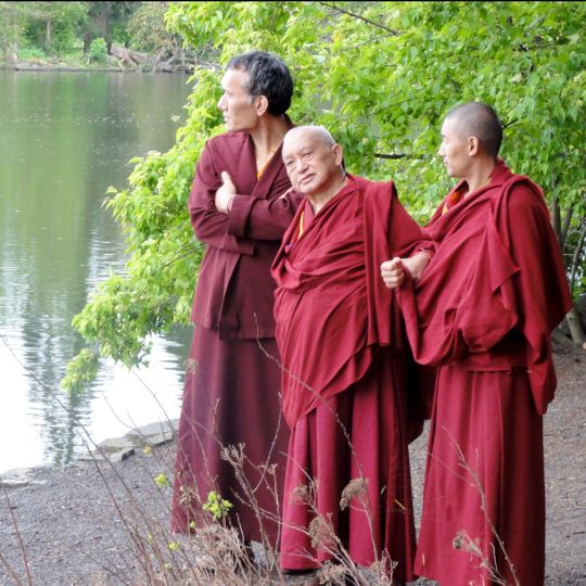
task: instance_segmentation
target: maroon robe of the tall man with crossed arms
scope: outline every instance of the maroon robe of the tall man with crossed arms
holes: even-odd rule
[[[221,171],[237,187],[229,214],[219,213],[214,202]],[[258,519],[251,501],[275,519],[279,497],[271,489],[280,495],[284,477],[288,433],[281,422],[270,264],[300,202],[281,198],[290,187],[281,148],[257,179],[254,143],[246,132],[211,139],[196,167],[189,211],[195,237],[207,250],[195,290],[195,330],[179,422],[176,532],[200,524],[198,500],[205,502],[216,491],[232,504],[230,520],[245,540],[267,536],[275,543],[277,537],[277,523]],[[239,444],[245,445],[249,487],[220,456],[220,446]],[[265,463],[277,464],[276,477],[255,470]]]

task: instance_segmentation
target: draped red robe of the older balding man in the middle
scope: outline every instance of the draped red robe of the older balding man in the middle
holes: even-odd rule
[[[370,565],[388,552],[398,562],[395,577],[412,577],[407,398],[417,388],[380,263],[408,254],[420,240],[393,183],[358,177],[349,177],[315,217],[306,202],[283,237],[272,266],[283,412],[292,428],[283,569],[317,568],[331,558],[308,536],[316,510],[294,496],[316,481],[317,512],[331,515],[353,560]],[[368,497],[341,511],[342,491],[357,477],[367,479]]]

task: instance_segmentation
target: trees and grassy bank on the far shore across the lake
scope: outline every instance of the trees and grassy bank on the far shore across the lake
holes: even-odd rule
[[[12,68],[192,72],[198,51],[165,26],[169,2],[0,2],[0,62]]]

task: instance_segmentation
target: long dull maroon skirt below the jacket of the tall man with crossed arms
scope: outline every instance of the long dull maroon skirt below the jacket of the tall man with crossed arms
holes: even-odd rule
[[[279,358],[273,339],[260,344]],[[222,341],[216,331],[195,327],[179,420],[175,532],[189,533],[204,521],[201,505],[215,491],[232,504],[229,520],[244,540],[264,535],[276,544],[289,436],[280,384],[279,366],[256,340]],[[239,444],[244,444],[244,480],[220,455],[221,447]]]

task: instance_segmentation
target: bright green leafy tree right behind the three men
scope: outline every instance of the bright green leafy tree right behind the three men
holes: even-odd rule
[[[282,55],[296,82],[293,119],[328,127],[348,170],[392,177],[422,222],[451,184],[435,156],[444,115],[466,101],[493,104],[506,125],[502,155],[545,188],[574,294],[585,290],[582,3],[181,2],[166,20],[220,66],[251,48]],[[205,139],[222,131],[220,69],[196,67],[177,144],[136,160],[129,188],[110,193],[127,271],[101,283],[75,327],[128,365],[146,357],[148,334],[188,321],[202,246],[186,201]]]

